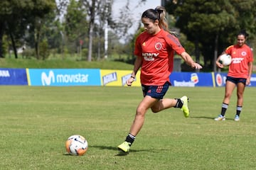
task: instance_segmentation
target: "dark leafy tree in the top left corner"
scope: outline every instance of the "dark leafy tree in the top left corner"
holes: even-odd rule
[[[4,33],[11,38],[14,53],[16,53],[16,42],[23,38],[28,26],[34,28],[35,49],[38,55],[38,42],[40,40],[43,18],[55,8],[54,0],[1,0],[0,1],[0,47]],[[0,50],[0,56],[2,52]]]

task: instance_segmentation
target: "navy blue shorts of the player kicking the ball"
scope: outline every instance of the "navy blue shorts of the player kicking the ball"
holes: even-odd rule
[[[164,85],[161,86],[146,86],[142,84],[143,96],[151,96],[152,98],[162,99],[169,89],[169,82],[166,81]]]

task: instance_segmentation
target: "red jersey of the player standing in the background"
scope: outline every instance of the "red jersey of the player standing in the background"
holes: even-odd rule
[[[228,69],[228,76],[247,79],[249,69],[248,63],[253,62],[253,53],[248,45],[230,45],[225,53],[231,55],[232,62]]]

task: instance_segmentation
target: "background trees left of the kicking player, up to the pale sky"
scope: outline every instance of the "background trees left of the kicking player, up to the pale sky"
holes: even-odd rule
[[[137,1],[137,6],[144,1]],[[0,57],[11,49],[17,58],[17,48],[26,47],[31,50],[24,53],[38,60],[45,60],[49,53],[79,53],[86,56],[84,60],[99,60],[106,53],[106,26],[110,28],[108,41],[117,47],[122,47],[119,38],[132,37],[127,35],[133,24],[129,1],[125,1],[118,18],[112,15],[113,3],[113,0],[1,0]]]

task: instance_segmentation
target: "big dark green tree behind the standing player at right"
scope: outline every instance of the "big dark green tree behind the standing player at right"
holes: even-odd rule
[[[202,53],[205,67],[210,62],[214,71],[216,57],[223,46],[233,43],[238,30],[255,32],[255,5],[254,0],[166,1],[167,11],[176,16],[176,27],[195,43],[196,61]]]

